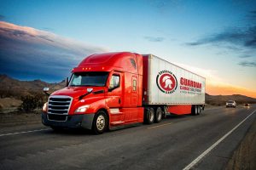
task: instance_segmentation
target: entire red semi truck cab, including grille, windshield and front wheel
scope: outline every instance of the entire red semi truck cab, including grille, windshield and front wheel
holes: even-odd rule
[[[73,68],[66,88],[49,95],[42,122],[94,133],[143,122],[143,56],[93,54]]]

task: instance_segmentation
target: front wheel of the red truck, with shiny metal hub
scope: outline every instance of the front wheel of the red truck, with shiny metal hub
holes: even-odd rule
[[[98,111],[92,122],[92,132],[102,134],[108,128],[108,117],[105,111]]]

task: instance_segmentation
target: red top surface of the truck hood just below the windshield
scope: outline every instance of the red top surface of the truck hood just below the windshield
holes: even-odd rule
[[[92,88],[92,93],[88,94],[87,88]],[[99,93],[101,92],[101,93]],[[84,98],[88,98],[90,95],[96,94],[104,94],[104,87],[66,87],[60,90],[55,91],[50,95],[67,95],[73,97],[73,99],[78,99],[81,95],[88,94],[84,96]]]

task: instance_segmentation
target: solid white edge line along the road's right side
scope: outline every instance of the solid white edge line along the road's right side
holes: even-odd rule
[[[194,161],[192,161],[191,163],[189,163],[189,165],[187,167],[184,167],[183,170],[189,170],[191,167],[194,167],[196,163],[198,163],[199,161],[201,161],[201,159],[206,156],[213,148],[215,148],[220,142],[222,142],[225,138],[227,138],[227,136],[230,135],[230,133],[232,133],[234,130],[236,130],[237,127],[239,127],[241,125],[241,123],[245,122],[247,120],[247,118],[249,118],[250,116],[253,115],[253,113],[256,110],[254,110],[249,116],[247,116],[243,121],[241,121],[238,125],[236,125],[236,127],[232,128],[230,130],[230,132],[226,133],[221,139],[218,139],[217,142],[215,142],[214,144],[212,144],[211,147],[209,147],[207,150],[205,150],[200,156],[198,156],[197,158],[195,158]]]

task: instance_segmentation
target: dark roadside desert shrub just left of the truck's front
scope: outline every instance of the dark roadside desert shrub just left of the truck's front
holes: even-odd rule
[[[41,108],[44,105],[44,95],[34,94],[21,97],[22,104],[20,105],[21,111],[34,111],[37,108]]]

